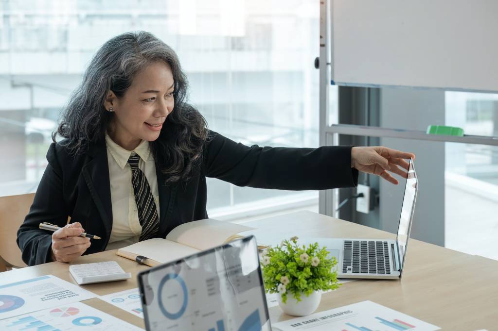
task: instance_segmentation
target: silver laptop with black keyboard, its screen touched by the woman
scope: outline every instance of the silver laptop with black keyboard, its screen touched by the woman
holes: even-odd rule
[[[418,180],[410,159],[396,240],[315,238],[335,256],[338,278],[399,279],[403,274],[406,248],[417,199]]]

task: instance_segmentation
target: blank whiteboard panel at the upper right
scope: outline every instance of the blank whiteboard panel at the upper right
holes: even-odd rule
[[[332,79],[498,91],[497,0],[332,0]]]

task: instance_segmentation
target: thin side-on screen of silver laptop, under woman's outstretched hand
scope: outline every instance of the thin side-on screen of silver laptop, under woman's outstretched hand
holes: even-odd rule
[[[408,167],[408,175],[406,178],[405,192],[403,196],[403,204],[401,206],[401,216],[399,217],[398,234],[396,241],[398,244],[400,270],[403,270],[404,257],[408,238],[410,237],[411,223],[413,212],[415,210],[415,199],[417,197],[418,181],[413,160],[410,159]]]

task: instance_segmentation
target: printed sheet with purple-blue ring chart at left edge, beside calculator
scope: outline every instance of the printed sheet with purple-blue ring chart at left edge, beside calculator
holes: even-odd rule
[[[0,285],[0,320],[91,298],[95,294],[53,275]]]

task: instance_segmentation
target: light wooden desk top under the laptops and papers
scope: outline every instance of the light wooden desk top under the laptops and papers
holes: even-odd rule
[[[246,225],[261,243],[275,238],[330,237],[392,239],[394,235],[362,225],[312,213],[298,212],[257,221]],[[464,240],[464,239],[463,239]],[[86,255],[74,264],[116,260],[133,277],[126,281],[83,285],[89,291],[105,295],[137,287],[136,273],[148,268],[115,255],[115,250]],[[51,262],[0,273],[0,284],[25,277],[53,274],[74,282],[68,264]],[[324,294],[317,310],[323,311],[371,300],[411,315],[443,330],[496,330],[498,323],[498,261],[469,255],[447,248],[410,240],[403,279],[358,280],[344,284],[339,290]],[[84,303],[144,328],[143,320],[99,299]],[[269,309],[272,322],[291,317],[280,308]]]

